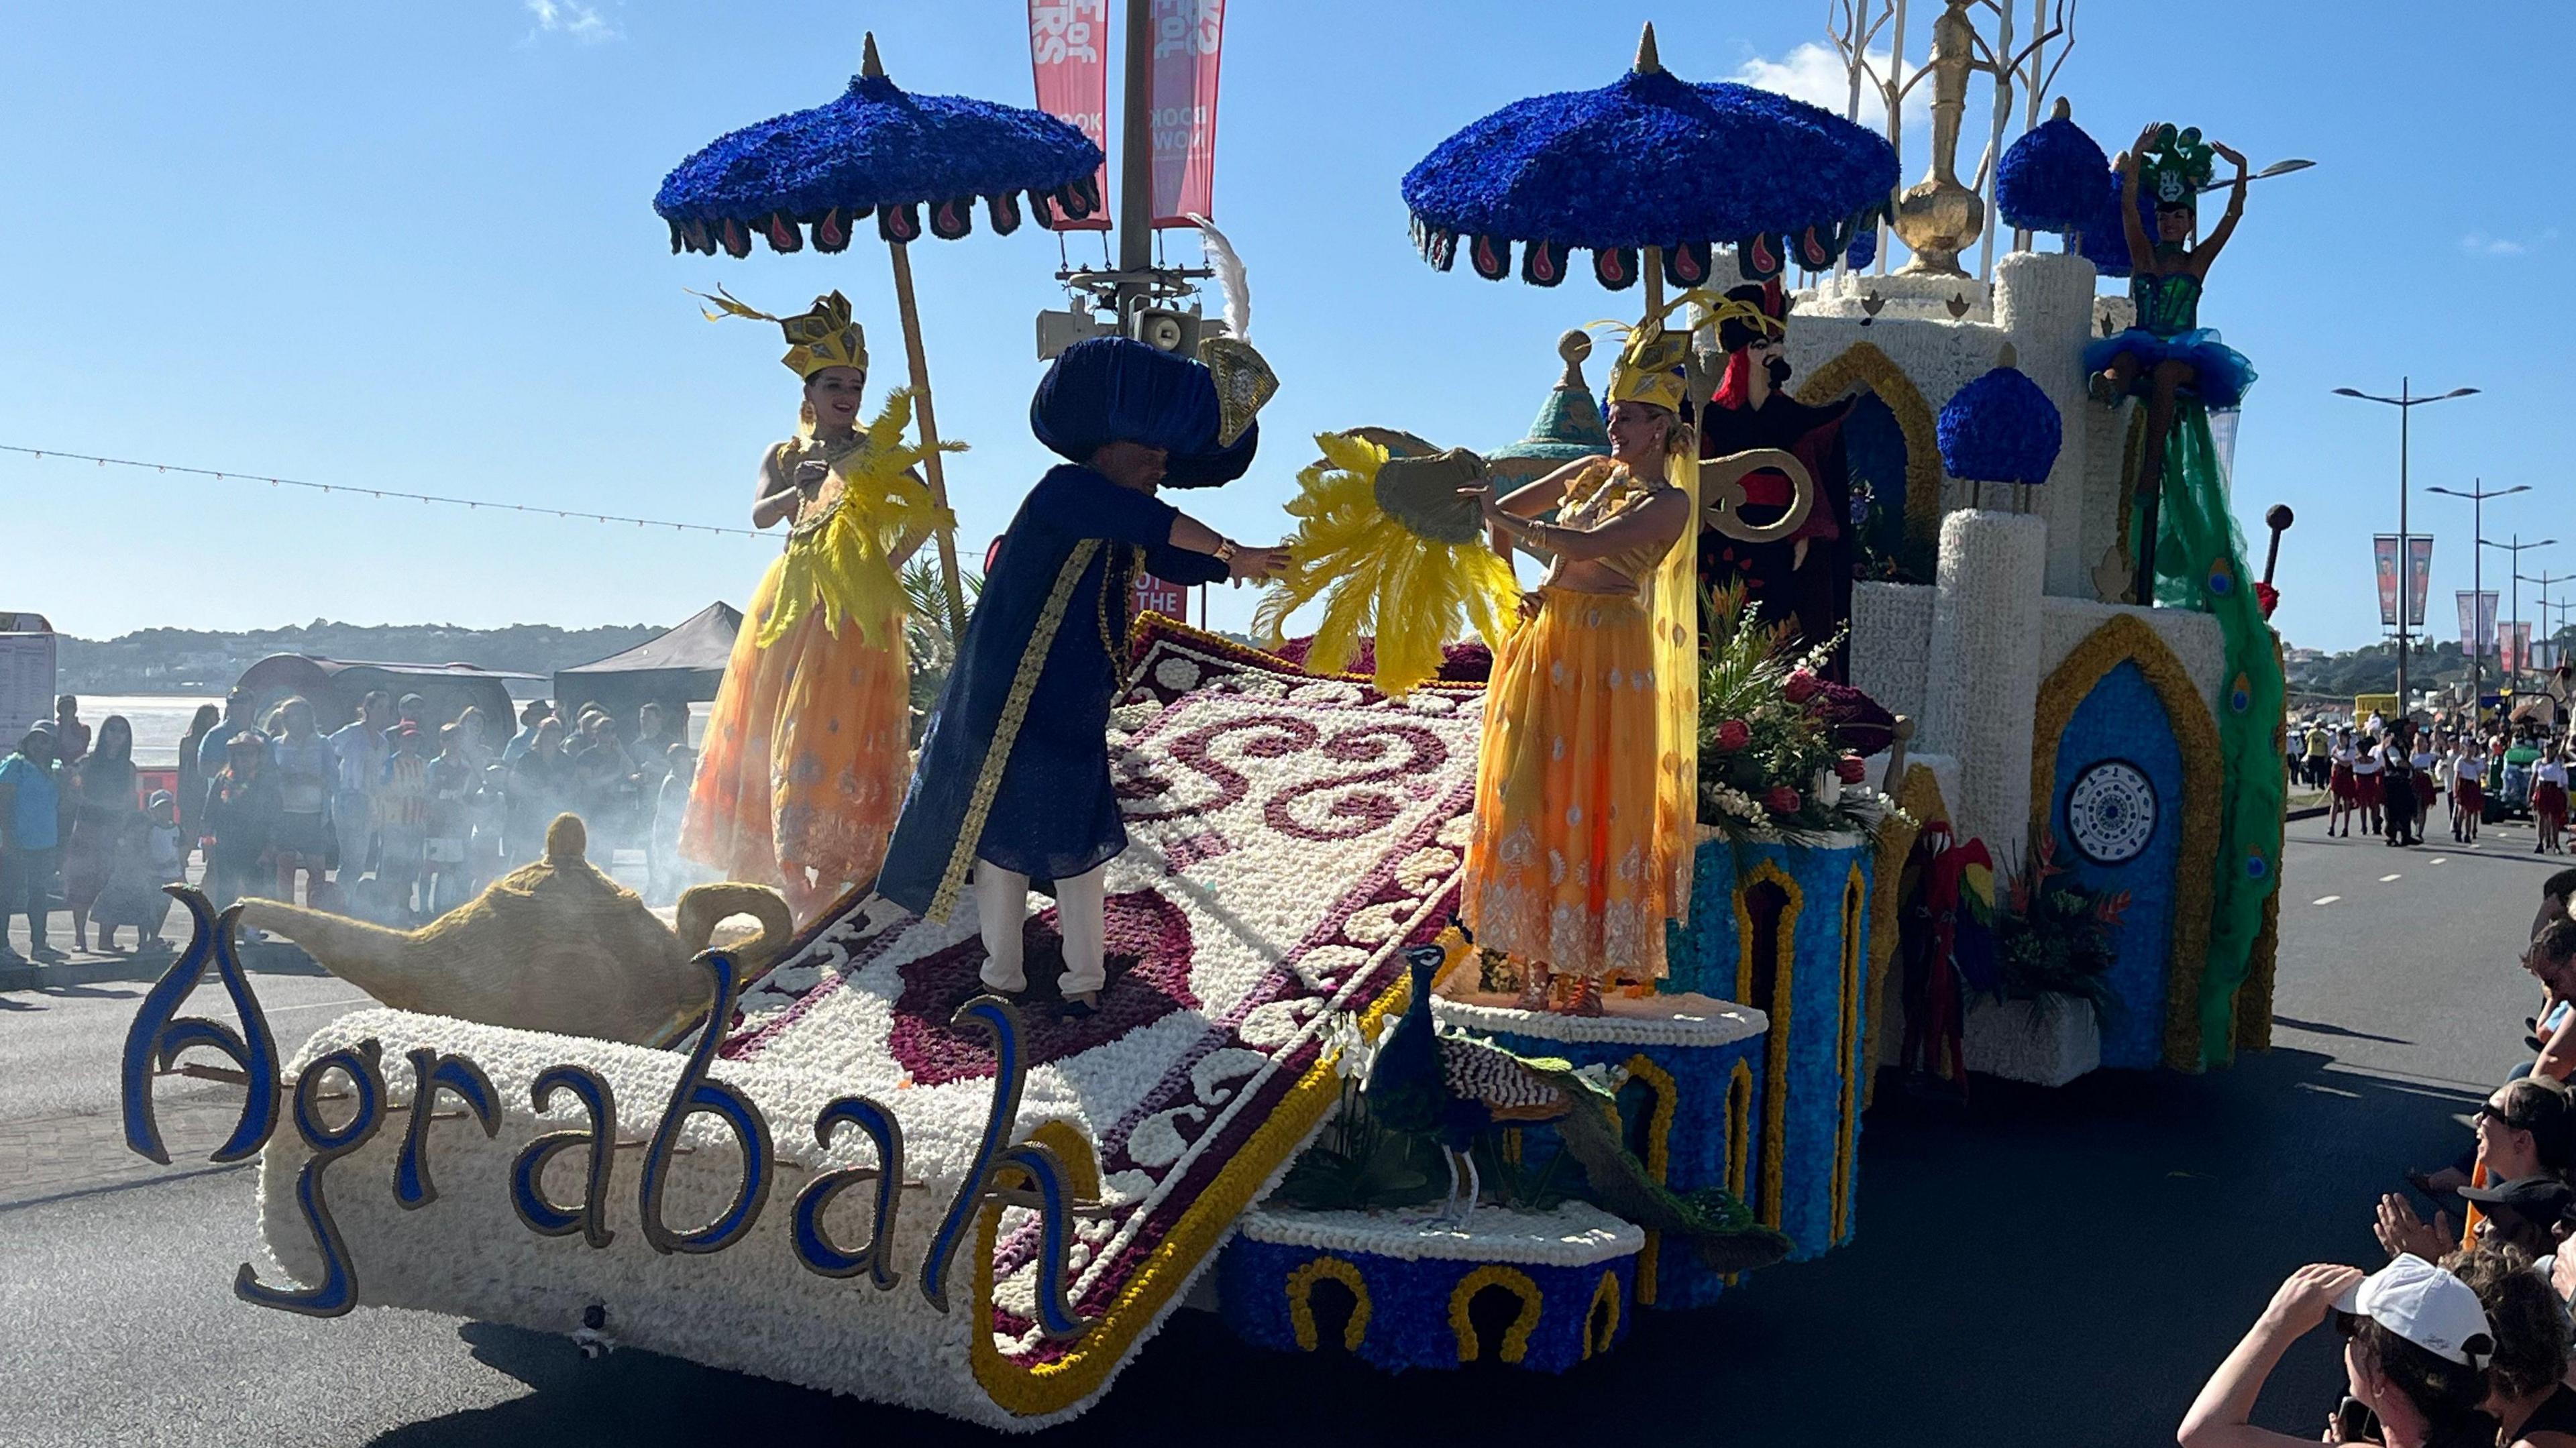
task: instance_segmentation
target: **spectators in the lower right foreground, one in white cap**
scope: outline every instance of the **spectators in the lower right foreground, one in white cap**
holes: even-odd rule
[[[2372,1234],[2388,1265],[2308,1265],[2218,1366],[2182,1420],[2184,1448],[2313,1443],[2251,1425],[2254,1399],[2293,1340],[2336,1324],[2347,1391],[2326,1443],[2396,1448],[2576,1448],[2576,868],[2540,891],[2524,971],[2540,1010],[2530,1064],[2470,1118],[2470,1144],[2439,1170],[2406,1172],[2427,1208],[2380,1198]],[[2318,1404],[2326,1407],[2326,1404]]]

